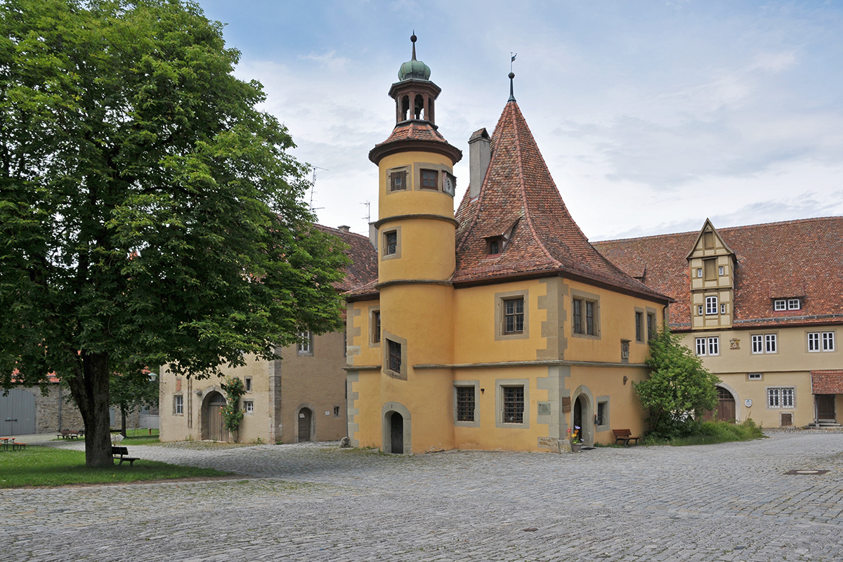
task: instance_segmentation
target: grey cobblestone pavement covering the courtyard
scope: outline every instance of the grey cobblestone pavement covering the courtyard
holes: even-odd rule
[[[194,442],[132,456],[242,477],[0,490],[0,559],[843,559],[839,433],[567,455]]]

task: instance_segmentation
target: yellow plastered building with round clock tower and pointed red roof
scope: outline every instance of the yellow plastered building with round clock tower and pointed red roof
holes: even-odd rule
[[[490,136],[461,151],[439,133],[440,88],[400,67],[379,167],[378,279],[346,293],[348,436],[357,447],[570,450],[640,435],[632,383],[669,298],[626,275],[568,213],[511,91]]]

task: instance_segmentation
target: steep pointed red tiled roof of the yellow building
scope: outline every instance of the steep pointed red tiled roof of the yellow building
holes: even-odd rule
[[[466,193],[456,213],[454,282],[556,270],[666,300],[609,263],[588,243],[568,213],[516,102],[504,108],[491,146],[480,195],[471,201]],[[500,235],[513,224],[502,254],[488,256],[485,237]]]

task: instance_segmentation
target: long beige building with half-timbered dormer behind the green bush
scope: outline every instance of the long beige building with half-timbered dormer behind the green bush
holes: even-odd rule
[[[594,244],[673,297],[669,325],[722,383],[722,420],[835,426],[843,411],[843,217]]]

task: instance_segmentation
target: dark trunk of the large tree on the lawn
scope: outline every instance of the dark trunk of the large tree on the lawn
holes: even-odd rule
[[[109,356],[83,351],[80,361],[81,369],[67,379],[67,384],[85,422],[85,464],[113,466],[108,411]]]

